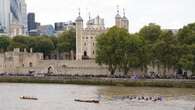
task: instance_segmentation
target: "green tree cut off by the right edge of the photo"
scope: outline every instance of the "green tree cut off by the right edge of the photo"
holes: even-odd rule
[[[179,30],[178,43],[184,48],[178,66],[195,73],[195,23],[188,24]]]

